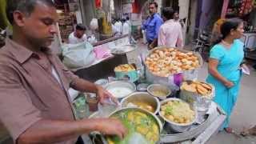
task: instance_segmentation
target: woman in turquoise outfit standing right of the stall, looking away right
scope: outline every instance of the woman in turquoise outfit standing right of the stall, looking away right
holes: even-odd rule
[[[222,38],[210,50],[208,63],[209,75],[206,82],[215,86],[214,102],[226,112],[227,118],[222,130],[231,133],[230,114],[238,98],[241,80],[241,69],[244,52],[242,37],[243,22],[240,19],[229,19],[221,26]]]

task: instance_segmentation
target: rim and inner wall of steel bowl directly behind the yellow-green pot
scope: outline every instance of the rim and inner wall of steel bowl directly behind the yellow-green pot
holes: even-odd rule
[[[146,92],[135,92],[133,94],[130,94],[126,98],[123,98],[121,101],[122,107],[129,107],[127,106],[130,102],[146,102],[150,106],[153,106],[154,108],[154,114],[158,114],[160,110],[160,102],[158,98],[151,97],[150,94]]]

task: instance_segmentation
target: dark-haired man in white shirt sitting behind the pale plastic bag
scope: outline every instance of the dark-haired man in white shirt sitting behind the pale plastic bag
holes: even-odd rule
[[[69,43],[77,44],[80,42],[86,42],[87,36],[86,36],[85,32],[86,32],[86,26],[83,26],[82,24],[78,24],[75,27],[74,32],[72,32],[69,36]]]

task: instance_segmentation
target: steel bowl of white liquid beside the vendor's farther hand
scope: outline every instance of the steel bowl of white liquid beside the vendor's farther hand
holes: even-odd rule
[[[114,82],[109,82],[106,85],[106,90],[108,90],[108,91],[110,91],[111,89],[114,89],[114,88],[120,88],[120,89],[127,88],[130,90],[130,93],[124,94],[121,97],[114,95],[115,98],[125,98],[129,94],[132,94],[132,93],[134,93],[134,91],[136,91],[135,84],[132,82],[126,82],[126,81],[114,81]]]

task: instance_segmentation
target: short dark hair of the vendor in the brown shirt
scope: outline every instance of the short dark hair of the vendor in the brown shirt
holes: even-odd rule
[[[43,2],[47,6],[54,6],[54,2],[52,0],[8,0],[6,2],[6,16],[11,24],[14,23],[13,14],[15,10],[19,10],[27,16],[30,16],[34,11],[34,6],[37,5],[37,2]]]

